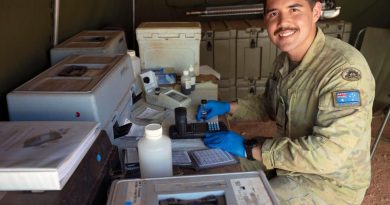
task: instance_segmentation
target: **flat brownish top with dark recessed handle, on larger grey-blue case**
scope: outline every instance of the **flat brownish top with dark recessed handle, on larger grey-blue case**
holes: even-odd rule
[[[127,55],[73,55],[50,67],[15,89],[15,91],[40,93],[94,92],[109,73],[126,62]],[[77,72],[80,70],[80,72]],[[84,70],[84,71],[83,71]],[[72,73],[75,76],[61,76]],[[85,73],[84,73],[85,72]],[[111,83],[111,82],[110,82]]]

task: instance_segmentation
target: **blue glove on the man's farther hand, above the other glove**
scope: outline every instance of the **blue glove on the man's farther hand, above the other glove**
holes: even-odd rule
[[[225,113],[230,112],[230,103],[216,101],[216,100],[208,100],[206,104],[201,104],[198,106],[198,111],[196,113],[196,119],[198,121],[203,120],[202,112],[206,112],[206,116],[204,120],[211,119],[218,115],[223,115]]]

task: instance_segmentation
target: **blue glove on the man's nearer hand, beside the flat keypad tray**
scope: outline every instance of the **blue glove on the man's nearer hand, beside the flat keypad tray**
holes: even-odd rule
[[[209,148],[220,148],[238,157],[245,158],[244,138],[232,131],[208,133],[203,139]]]

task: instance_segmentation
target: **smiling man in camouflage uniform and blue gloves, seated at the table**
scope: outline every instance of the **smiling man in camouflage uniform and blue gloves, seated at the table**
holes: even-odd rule
[[[241,157],[246,171],[276,169],[270,184],[280,204],[361,204],[371,178],[375,83],[369,66],[359,51],[316,26],[319,2],[265,3],[268,36],[282,51],[265,94],[208,101],[204,107],[206,119],[225,113],[233,119],[274,119],[277,133],[245,140],[220,132],[204,142]]]

